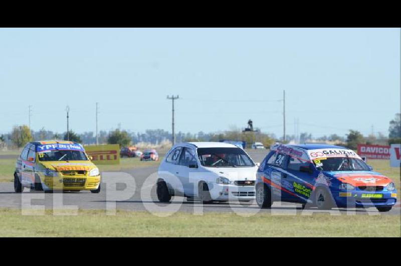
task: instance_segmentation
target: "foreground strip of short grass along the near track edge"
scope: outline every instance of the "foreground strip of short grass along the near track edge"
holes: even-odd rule
[[[0,209],[4,236],[392,236],[400,237],[397,215],[241,217],[233,213],[175,213],[157,217],[148,212],[80,210],[76,216],[23,216],[20,210]]]

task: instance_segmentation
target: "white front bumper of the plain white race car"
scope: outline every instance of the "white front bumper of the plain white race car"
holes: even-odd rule
[[[214,200],[254,200],[255,186],[236,186],[208,183],[209,192]]]

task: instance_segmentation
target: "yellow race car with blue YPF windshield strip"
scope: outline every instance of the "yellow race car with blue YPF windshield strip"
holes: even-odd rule
[[[81,144],[70,141],[28,143],[16,163],[14,190],[24,187],[45,192],[53,190],[100,192],[100,172]]]

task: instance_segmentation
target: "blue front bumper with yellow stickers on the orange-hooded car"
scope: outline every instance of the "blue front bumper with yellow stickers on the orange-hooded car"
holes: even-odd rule
[[[333,193],[338,207],[380,207],[392,206],[397,201],[396,191],[337,191]]]

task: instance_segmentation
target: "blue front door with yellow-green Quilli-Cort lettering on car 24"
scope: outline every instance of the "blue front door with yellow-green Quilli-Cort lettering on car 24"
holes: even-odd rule
[[[308,172],[310,169],[310,172]],[[289,156],[287,163],[287,179],[293,187],[293,193],[296,195],[295,200],[306,202],[313,189],[313,174],[311,163],[295,156]]]

